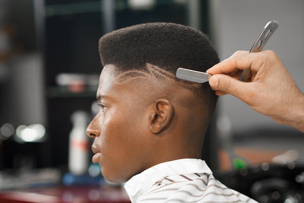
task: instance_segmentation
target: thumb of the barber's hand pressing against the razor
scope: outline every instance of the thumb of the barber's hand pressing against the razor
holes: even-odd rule
[[[231,94],[239,99],[246,92],[246,83],[224,74],[212,75],[209,78],[209,85],[214,89]]]

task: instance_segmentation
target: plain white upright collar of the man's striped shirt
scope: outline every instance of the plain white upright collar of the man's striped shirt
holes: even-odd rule
[[[156,181],[163,177],[188,173],[212,174],[212,171],[201,159],[178,159],[144,170],[127,181],[124,187],[131,202],[135,203],[139,196],[147,192]]]

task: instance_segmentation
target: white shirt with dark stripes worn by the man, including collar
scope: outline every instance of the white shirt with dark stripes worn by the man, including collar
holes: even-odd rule
[[[201,159],[179,159],[132,177],[125,189],[132,203],[256,203],[224,186]]]

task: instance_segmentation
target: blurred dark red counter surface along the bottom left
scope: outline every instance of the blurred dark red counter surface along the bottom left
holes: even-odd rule
[[[0,203],[130,203],[123,188],[43,186],[0,191]]]

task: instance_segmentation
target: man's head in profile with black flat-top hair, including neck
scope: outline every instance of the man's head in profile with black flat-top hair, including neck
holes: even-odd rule
[[[175,72],[218,63],[209,39],[187,26],[147,23],[102,36],[99,51],[102,108],[87,134],[105,178],[125,182],[161,162],[200,158],[217,96]]]

